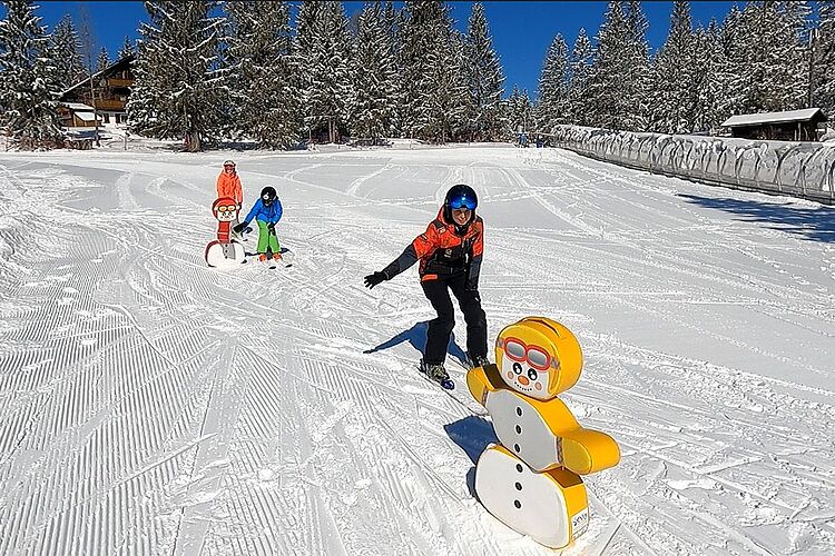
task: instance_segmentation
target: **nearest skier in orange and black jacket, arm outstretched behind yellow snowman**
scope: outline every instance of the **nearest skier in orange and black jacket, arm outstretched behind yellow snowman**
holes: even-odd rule
[[[442,385],[450,383],[444,360],[455,326],[449,290],[452,290],[464,314],[470,361],[475,367],[489,363],[487,316],[479,295],[484,222],[475,215],[478,202],[475,191],[470,186],[453,186],[446,192],[438,218],[430,222],[426,231],[418,236],[387,267],[364,278],[365,286],[373,288],[420,260],[418,272],[423,292],[438,312],[438,317],[429,322],[421,370]]]

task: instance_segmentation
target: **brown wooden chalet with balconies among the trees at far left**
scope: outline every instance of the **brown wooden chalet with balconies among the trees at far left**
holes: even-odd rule
[[[61,125],[95,127],[92,112],[98,125],[125,123],[135,61],[136,54],[128,54],[63,91],[58,99]]]

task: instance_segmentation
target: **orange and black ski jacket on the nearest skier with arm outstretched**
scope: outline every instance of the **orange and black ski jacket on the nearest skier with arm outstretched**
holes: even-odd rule
[[[444,218],[443,207],[426,231],[414,238],[403,252],[383,269],[387,279],[420,261],[421,281],[436,280],[464,272],[466,289],[479,287],[481,257],[484,251],[484,221],[475,216],[463,229]]]

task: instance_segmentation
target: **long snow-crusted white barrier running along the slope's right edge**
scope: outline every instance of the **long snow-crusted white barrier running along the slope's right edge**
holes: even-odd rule
[[[554,147],[654,173],[835,205],[835,145],[556,126]]]

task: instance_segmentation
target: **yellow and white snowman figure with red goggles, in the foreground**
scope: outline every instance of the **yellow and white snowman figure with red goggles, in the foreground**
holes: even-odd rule
[[[495,365],[466,375],[470,393],[487,408],[501,445],[475,466],[475,494],[512,529],[561,548],[589,524],[579,475],[617,465],[609,436],[582,428],[557,395],[580,378],[582,351],[561,324],[527,317],[495,340]]]

